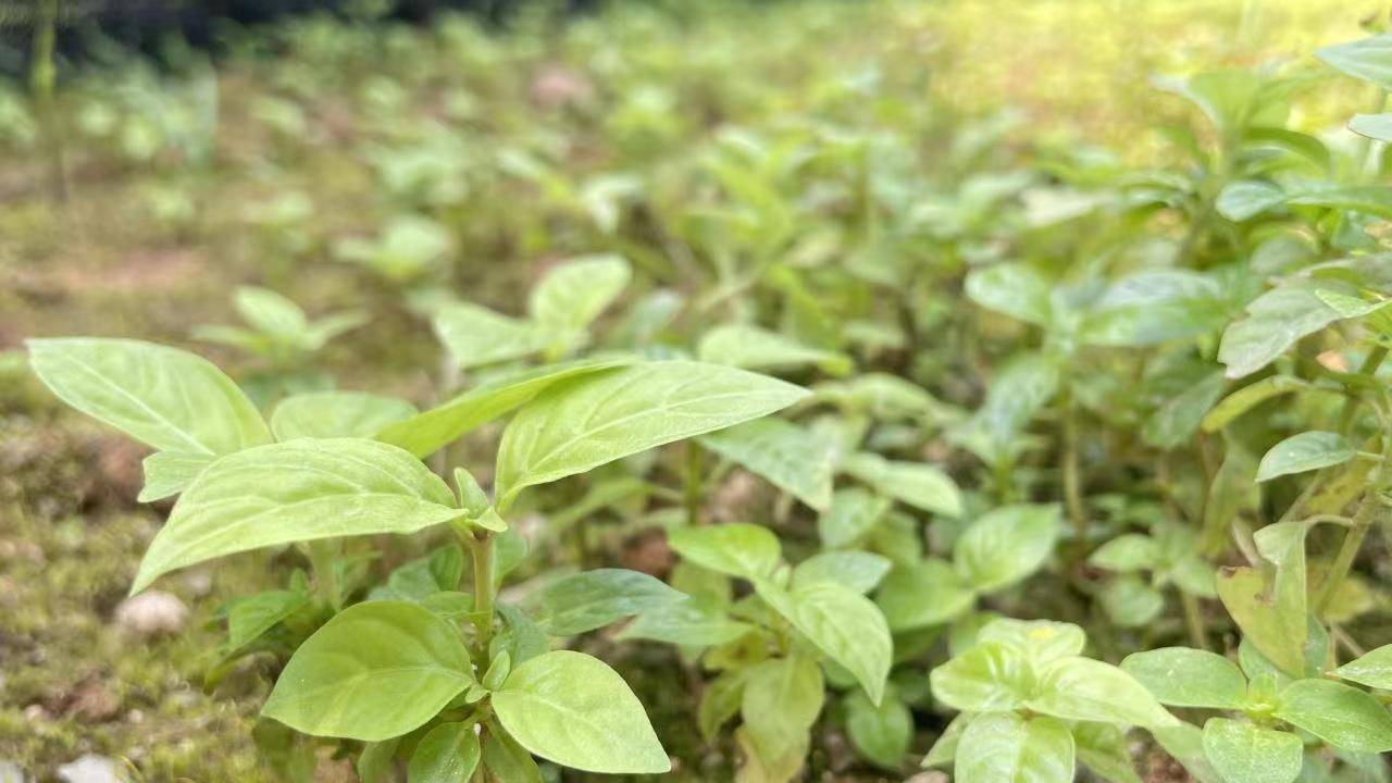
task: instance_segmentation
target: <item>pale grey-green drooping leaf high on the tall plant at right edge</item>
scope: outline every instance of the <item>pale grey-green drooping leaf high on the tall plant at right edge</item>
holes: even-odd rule
[[[1247,316],[1235,320],[1222,334],[1218,361],[1228,378],[1243,378],[1271,364],[1307,334],[1339,319],[1307,286],[1283,286],[1267,291],[1247,305]]]

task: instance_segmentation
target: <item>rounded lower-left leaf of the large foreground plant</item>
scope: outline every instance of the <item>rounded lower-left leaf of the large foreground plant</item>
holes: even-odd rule
[[[434,718],[469,672],[452,624],[413,603],[359,603],[305,639],[262,715],[317,737],[387,740]]]

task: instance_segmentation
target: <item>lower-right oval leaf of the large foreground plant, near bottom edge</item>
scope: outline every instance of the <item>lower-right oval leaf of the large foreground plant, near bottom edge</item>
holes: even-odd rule
[[[672,768],[638,697],[589,655],[560,649],[528,660],[493,694],[493,709],[522,747],[572,769],[657,775]]]

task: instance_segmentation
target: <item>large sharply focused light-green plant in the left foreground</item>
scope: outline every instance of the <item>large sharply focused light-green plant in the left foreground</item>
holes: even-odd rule
[[[642,574],[590,571],[555,585],[532,616],[498,603],[498,584],[525,552],[504,518],[529,486],[757,418],[805,394],[692,362],[532,373],[489,396],[493,415],[516,410],[498,447],[493,502],[468,471],[455,470],[455,495],[390,443],[437,435],[438,417],[408,418],[387,442],[373,440],[355,436],[361,417],[337,415],[363,400],[316,398],[267,426],[231,380],[192,354],[96,339],[35,340],[29,350],[35,372],[60,398],[157,450],[145,463],[142,499],[180,495],[132,592],[216,557],[306,549],[330,617],[295,648],[263,713],[303,734],[369,743],[359,759],[369,779],[397,752],[409,758],[412,775],[448,769],[457,780],[469,779],[480,759],[497,779],[539,779],[530,754],[597,772],[665,772],[670,761],[622,679],[594,658],[548,651],[547,634],[596,628],[679,594]],[[322,432],[334,429],[330,422],[351,426]],[[302,436],[306,428],[320,432]],[[457,436],[465,426],[452,421],[448,429]],[[398,571],[387,582],[391,598],[344,606],[345,536],[436,525],[448,525],[468,549],[472,589],[459,584],[462,557],[433,556],[426,570],[440,589],[402,591],[394,582],[408,578]],[[276,600],[234,605],[232,644],[292,617],[305,588],[301,580]],[[798,594],[768,589],[802,612]],[[824,617],[795,616],[830,628]],[[883,687],[876,676],[888,659],[887,635],[877,649],[857,667],[871,688]]]

